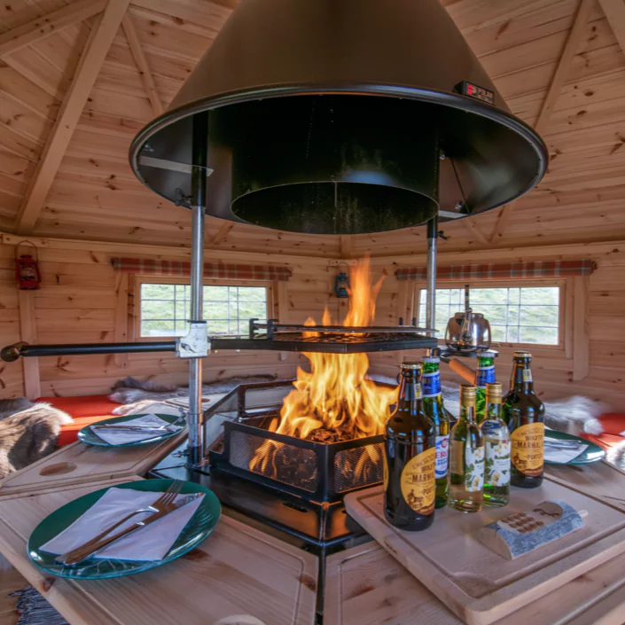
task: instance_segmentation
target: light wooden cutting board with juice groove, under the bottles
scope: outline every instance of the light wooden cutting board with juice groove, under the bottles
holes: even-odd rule
[[[547,499],[587,510],[585,527],[515,560],[475,539],[480,527]],[[512,504],[504,509],[477,514],[437,510],[434,525],[425,532],[402,532],[388,524],[379,487],[348,495],[345,504],[361,526],[470,625],[497,621],[625,551],[620,506],[548,479],[541,488],[513,489]]]

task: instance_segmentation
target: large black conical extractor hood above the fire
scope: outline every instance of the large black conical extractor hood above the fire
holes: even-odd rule
[[[547,160],[438,0],[241,0],[130,149],[181,206],[201,166],[208,215],[312,234],[479,214]]]

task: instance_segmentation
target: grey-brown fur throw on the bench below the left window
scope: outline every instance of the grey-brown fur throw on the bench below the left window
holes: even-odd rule
[[[258,382],[270,382],[276,379],[269,375],[250,376],[249,378],[229,378],[215,380],[202,385],[202,395],[217,395],[227,393],[239,384],[254,384]],[[156,409],[152,404],[159,403],[160,414],[177,414],[177,409],[163,406],[160,402],[176,397],[186,397],[189,394],[188,387],[177,387],[176,385],[159,384],[152,380],[141,380],[136,378],[125,378],[113,385],[113,393],[109,398],[113,402],[123,403],[123,406],[113,410],[116,415],[141,414],[143,412],[154,412]]]

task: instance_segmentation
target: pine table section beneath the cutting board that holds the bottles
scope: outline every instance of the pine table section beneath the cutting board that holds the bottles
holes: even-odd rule
[[[496,625],[622,625],[625,554],[582,574]],[[324,619],[332,625],[463,625],[378,543],[326,560]]]

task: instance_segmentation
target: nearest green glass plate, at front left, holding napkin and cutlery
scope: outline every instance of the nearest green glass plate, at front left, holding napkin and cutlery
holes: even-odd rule
[[[125,484],[115,485],[113,488],[130,488],[132,490],[150,491],[153,493],[165,492],[174,480],[144,480],[130,481]],[[46,517],[30,535],[27,544],[28,558],[30,558],[36,566],[43,568],[44,571],[59,577],[69,577],[76,580],[103,580],[109,577],[121,577],[123,575],[131,575],[135,573],[143,573],[156,566],[162,566],[184,556],[199,545],[210,533],[215,529],[217,521],[222,513],[222,506],[219,499],[212,490],[208,490],[191,481],[184,482],[182,489],[183,495],[191,495],[191,493],[204,493],[204,499],[199,504],[198,510],[193,514],[191,520],[186,524],[183,531],[178,536],[176,543],[168,551],[165,558],[160,560],[151,560],[148,562],[137,562],[135,560],[118,560],[118,559],[85,559],[84,562],[74,565],[65,566],[55,561],[57,557],[54,553],[42,551],[40,548],[43,544],[54,538],[62,532],[66,527],[74,523],[84,512],[95,504],[101,496],[104,496],[108,488],[96,490],[89,495],[74,499],[55,510]]]

